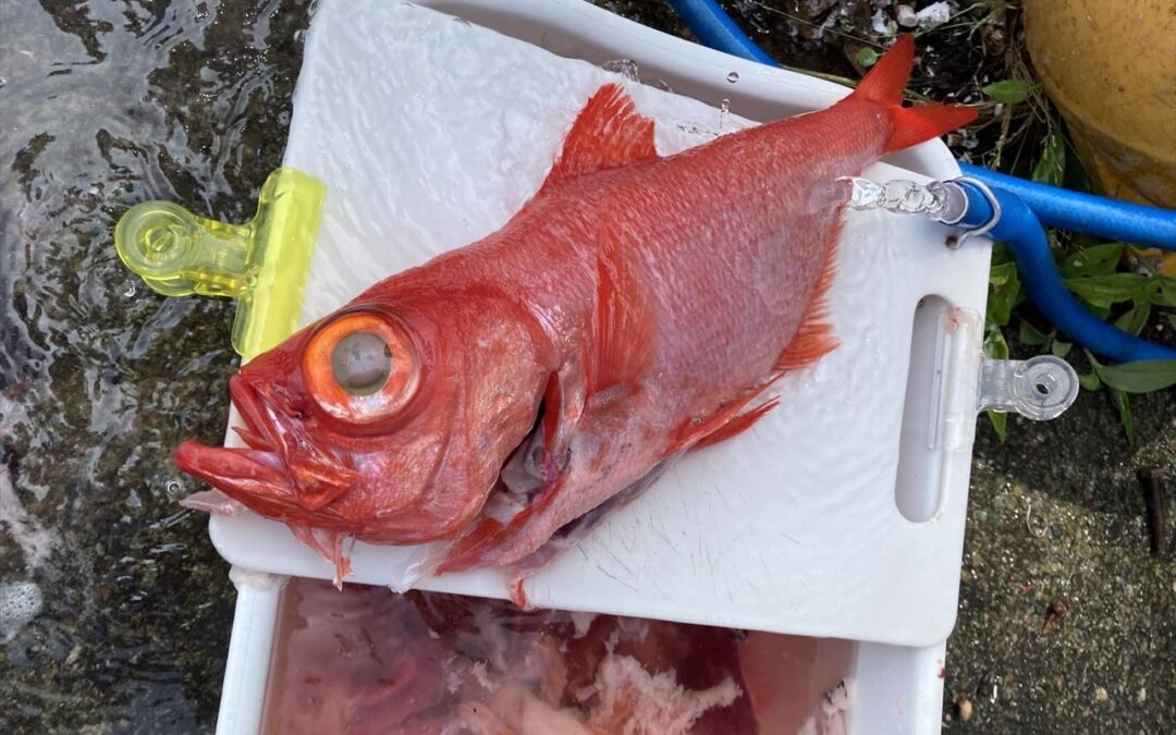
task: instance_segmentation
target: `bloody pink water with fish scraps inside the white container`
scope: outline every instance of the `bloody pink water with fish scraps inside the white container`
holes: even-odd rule
[[[851,664],[848,641],[293,579],[262,731],[833,735]]]

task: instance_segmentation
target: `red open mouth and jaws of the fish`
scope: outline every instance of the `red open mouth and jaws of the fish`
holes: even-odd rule
[[[302,423],[283,412],[265,389],[234,375],[229,395],[242,427],[234,427],[248,446],[209,447],[187,440],[175,450],[175,463],[188,473],[263,514],[320,510],[338,500],[359,479]]]

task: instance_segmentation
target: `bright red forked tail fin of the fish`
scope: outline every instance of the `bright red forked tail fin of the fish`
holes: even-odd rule
[[[976,109],[962,105],[902,106],[902,92],[915,65],[915,39],[898,36],[890,51],[866,74],[853,96],[886,108],[890,116],[890,136],[882,151],[902,151],[924,140],[963,127],[976,119]]]

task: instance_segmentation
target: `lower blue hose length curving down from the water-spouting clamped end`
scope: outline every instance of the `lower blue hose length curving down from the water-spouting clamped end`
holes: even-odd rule
[[[968,193],[968,212],[960,223],[980,227],[993,216],[991,205],[973,185],[963,181],[961,186]],[[1008,248],[1029,298],[1060,330],[1116,362],[1176,360],[1176,349],[1141,340],[1082,308],[1062,281],[1049,240],[1034,212],[1011,192],[994,187],[993,194],[1001,205],[1001,219],[989,234]],[[1029,274],[1033,278],[1025,278]]]

